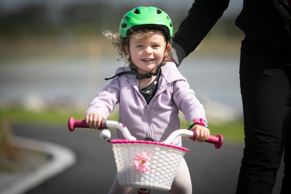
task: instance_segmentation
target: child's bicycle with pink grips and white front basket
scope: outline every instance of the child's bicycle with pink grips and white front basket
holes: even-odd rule
[[[86,125],[85,120],[75,120],[70,117],[68,129],[74,131],[75,128],[89,128],[89,126]],[[125,139],[110,140],[111,133],[108,128],[121,130]],[[136,140],[122,123],[109,120],[101,122],[101,129],[100,138],[113,146],[119,185],[138,188],[138,194],[149,194],[150,189],[169,191],[181,159],[189,151],[185,147],[174,146],[171,143],[179,135],[195,138],[195,130],[178,129],[163,142],[140,141]],[[205,142],[214,144],[218,149],[223,144],[223,136],[210,135]]]

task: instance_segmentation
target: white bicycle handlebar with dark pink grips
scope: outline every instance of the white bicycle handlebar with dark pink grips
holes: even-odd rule
[[[136,138],[130,134],[129,130],[123,124],[116,121],[102,120],[100,128],[103,130],[100,133],[100,138],[103,140],[110,139],[110,131],[106,130],[108,127],[121,130],[123,136],[130,141],[136,140]],[[89,128],[89,126],[86,125],[85,120],[75,120],[73,117],[70,117],[68,120],[68,129],[70,131],[74,131],[75,128]],[[169,137],[162,143],[172,144],[175,138],[179,135],[188,136],[191,140],[193,140],[195,138],[195,130],[178,129],[172,132]],[[218,149],[223,144],[223,136],[220,134],[217,136],[210,135],[209,139],[205,142],[214,144],[214,147]]]

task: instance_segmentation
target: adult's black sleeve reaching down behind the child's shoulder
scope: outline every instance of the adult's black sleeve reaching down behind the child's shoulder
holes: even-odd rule
[[[178,65],[196,49],[228,7],[229,0],[195,0],[173,37],[173,58]]]

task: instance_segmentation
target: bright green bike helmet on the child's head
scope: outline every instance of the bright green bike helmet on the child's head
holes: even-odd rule
[[[131,31],[153,28],[161,30],[166,34],[168,40],[173,36],[173,25],[170,17],[162,10],[156,7],[137,7],[123,16],[119,35],[121,37],[129,36]]]

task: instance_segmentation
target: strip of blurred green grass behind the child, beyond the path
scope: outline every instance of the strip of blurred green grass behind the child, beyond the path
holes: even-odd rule
[[[84,110],[85,112],[85,110]],[[84,112],[76,110],[48,109],[42,112],[27,111],[22,108],[14,108],[0,111],[0,121],[5,120],[11,125],[37,125],[67,128],[69,117],[76,120],[84,119]],[[117,120],[118,115],[112,113],[108,120]],[[181,118],[181,129],[187,129],[186,121]],[[236,120],[227,123],[219,123],[209,120],[210,134],[216,136],[222,134],[226,144],[243,144],[243,121]]]

